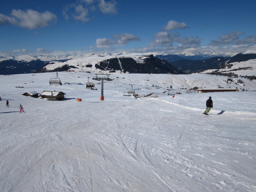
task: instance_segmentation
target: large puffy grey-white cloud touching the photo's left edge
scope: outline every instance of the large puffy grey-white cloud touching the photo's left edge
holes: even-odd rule
[[[34,10],[15,10],[13,9],[10,16],[0,14],[0,25],[13,24],[19,27],[36,29],[49,26],[49,23],[56,23],[57,16],[49,11],[39,13]]]

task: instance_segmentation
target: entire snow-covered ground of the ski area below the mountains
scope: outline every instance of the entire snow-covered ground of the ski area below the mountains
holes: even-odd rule
[[[60,73],[61,86],[50,86],[52,76],[0,76],[1,192],[256,191],[255,80],[244,80],[251,91],[172,97],[160,85],[230,84],[206,74],[115,74],[100,101],[101,85],[86,89],[87,74]],[[131,84],[144,97],[127,96]],[[44,90],[66,99],[22,96]]]

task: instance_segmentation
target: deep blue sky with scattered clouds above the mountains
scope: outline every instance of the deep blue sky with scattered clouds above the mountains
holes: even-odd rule
[[[256,50],[255,0],[1,0],[0,54]]]

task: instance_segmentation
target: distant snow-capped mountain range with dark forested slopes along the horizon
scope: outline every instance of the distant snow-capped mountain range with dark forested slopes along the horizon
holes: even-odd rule
[[[150,57],[148,57],[151,55]],[[153,56],[154,55],[154,56]],[[152,57],[153,56],[153,57]],[[216,57],[219,56],[219,57]],[[222,56],[222,57],[220,57]],[[225,56],[225,57],[224,57]],[[232,56],[232,57],[231,57]],[[126,60],[126,66],[120,61],[120,58],[129,58],[129,62]],[[148,68],[148,64],[144,59],[151,58],[154,62],[150,62],[151,70],[144,70],[145,66]],[[165,60],[169,63],[169,66],[172,68],[170,70],[167,63],[164,64],[164,71],[162,68],[163,64],[159,63],[164,62],[158,60]],[[241,54],[234,53],[224,53],[224,52],[205,52],[204,54],[200,52],[183,52],[179,54],[164,54],[164,53],[127,53],[120,52],[116,54],[110,53],[89,53],[89,54],[75,54],[75,55],[40,55],[40,56],[31,56],[31,55],[22,55],[22,56],[8,56],[0,57],[0,74],[22,74],[22,73],[33,73],[38,70],[40,72],[47,71],[63,71],[63,70],[72,70],[80,72],[102,72],[111,71],[116,73],[172,73],[173,67],[178,68],[185,73],[193,72],[202,72],[204,70],[217,70],[225,63],[230,62],[243,62],[256,59],[255,50],[247,50]],[[121,59],[122,60],[122,59]],[[114,63],[113,63],[114,62]],[[133,66],[136,66],[133,70],[123,70],[127,68],[127,64],[136,63]],[[118,64],[119,63],[119,64]],[[145,64],[146,63],[146,64]],[[249,62],[252,64],[250,69],[254,68],[254,61]],[[144,66],[138,66],[144,64]],[[229,65],[230,66],[230,65]],[[238,65],[236,65],[238,66]],[[130,66],[129,66],[130,67]],[[166,70],[166,67],[169,68]],[[58,68],[58,69],[56,69]],[[143,68],[143,70],[142,70]],[[152,69],[158,70],[152,70]],[[241,67],[240,67],[241,68]],[[43,69],[43,70],[41,70]],[[176,70],[177,71],[177,70]],[[179,73],[179,72],[178,72]],[[178,74],[176,73],[176,74]],[[250,72],[251,74],[251,72]]]

